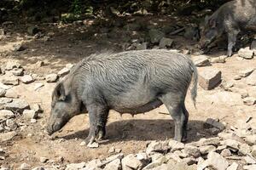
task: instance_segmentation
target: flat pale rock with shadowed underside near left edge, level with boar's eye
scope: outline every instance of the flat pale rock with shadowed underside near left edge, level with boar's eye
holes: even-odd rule
[[[29,105],[23,99],[13,99],[11,103],[6,103],[3,106],[7,110],[17,111],[19,113],[22,113],[22,111],[29,109]]]

